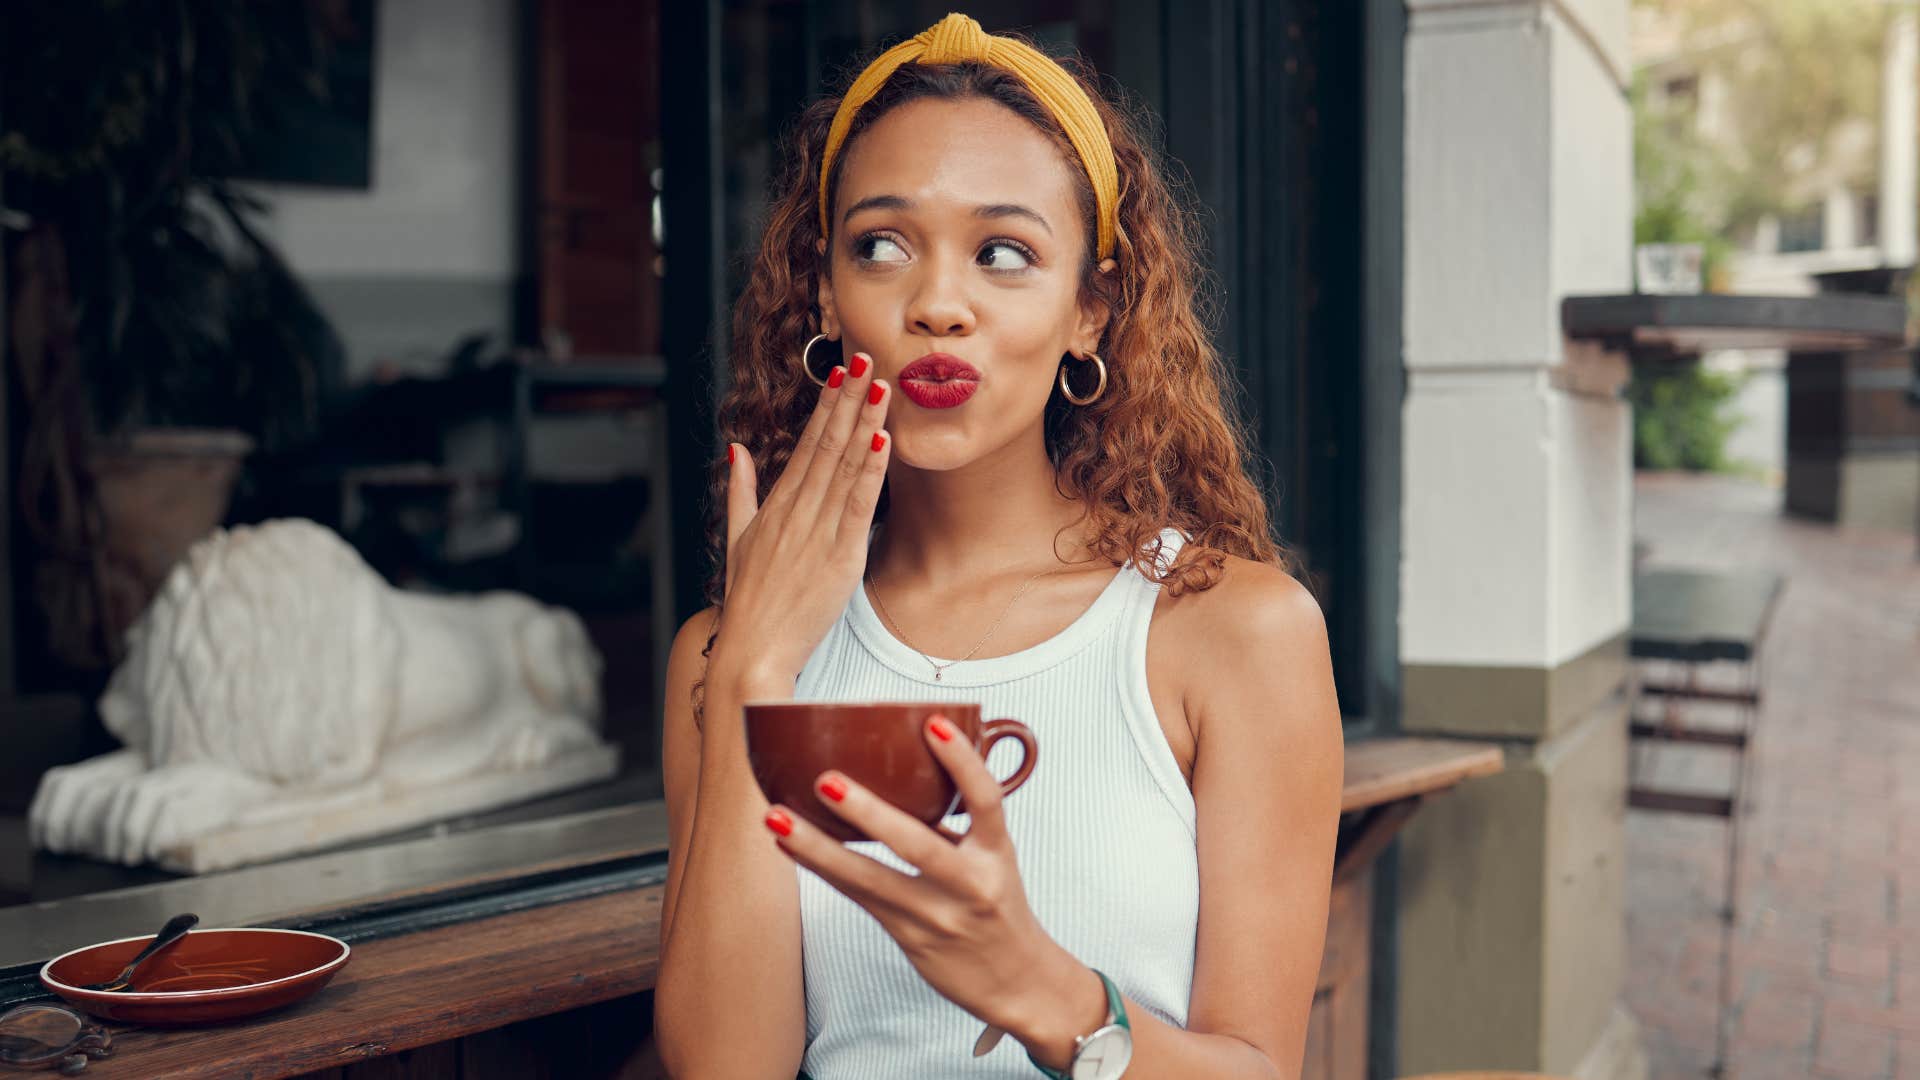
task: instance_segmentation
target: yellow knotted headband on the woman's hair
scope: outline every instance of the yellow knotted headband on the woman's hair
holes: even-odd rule
[[[852,117],[860,108],[874,100],[874,94],[902,63],[968,61],[1010,71],[1060,121],[1068,142],[1087,165],[1087,179],[1092,181],[1094,250],[1102,259],[1112,256],[1119,221],[1119,173],[1114,167],[1114,146],[1106,140],[1106,125],[1100,123],[1100,113],[1094,111],[1087,90],[1044,52],[1021,40],[993,37],[960,13],[947,15],[933,27],[879,54],[847,88],[839,111],[833,113],[833,127],[828,129],[828,148],[820,156],[820,234],[826,236],[833,231],[828,221],[828,177],[833,173],[833,158],[847,142],[847,129],[852,127]]]

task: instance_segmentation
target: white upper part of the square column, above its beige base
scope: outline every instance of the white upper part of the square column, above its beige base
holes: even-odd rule
[[[1626,626],[1626,407],[1559,377],[1559,300],[1632,290],[1626,6],[1407,4],[1404,663]]]

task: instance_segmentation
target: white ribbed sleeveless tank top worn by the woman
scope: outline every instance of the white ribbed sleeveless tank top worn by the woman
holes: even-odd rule
[[[1164,561],[1181,534],[1162,534]],[[1194,799],[1146,690],[1146,630],[1160,586],[1131,565],[1079,619],[1018,653],[964,661],[941,680],[881,623],[864,588],[801,671],[810,701],[979,701],[1041,746],[1033,776],[1002,803],[1041,926],[1104,970],[1139,1009],[1187,1024],[1200,919]],[[935,657],[945,661],[945,657]],[[987,765],[1006,776],[1020,744]],[[966,830],[964,815],[947,821]],[[908,869],[879,844],[852,844]],[[1006,1038],[972,1057],[981,1022],[933,992],[864,909],[801,869],[806,1059],[812,1080],[1039,1076]]]

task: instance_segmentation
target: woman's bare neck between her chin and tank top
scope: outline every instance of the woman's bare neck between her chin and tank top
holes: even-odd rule
[[[879,578],[945,592],[1000,573],[1087,559],[1083,503],[1056,488],[1039,430],[960,469],[895,465],[887,523],[872,553]]]

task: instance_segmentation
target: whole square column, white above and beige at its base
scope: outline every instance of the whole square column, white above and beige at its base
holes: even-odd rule
[[[1644,1076],[1624,982],[1628,0],[1407,0],[1404,721],[1505,773],[1400,847],[1398,1070]]]

